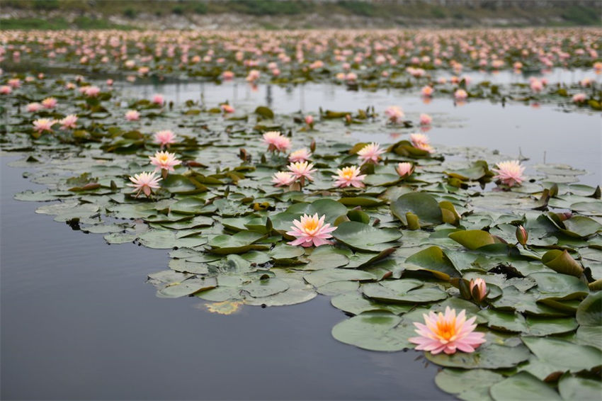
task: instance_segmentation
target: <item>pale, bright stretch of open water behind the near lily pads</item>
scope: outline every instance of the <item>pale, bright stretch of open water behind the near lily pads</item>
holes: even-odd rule
[[[511,72],[507,72],[511,74]],[[561,74],[557,72],[557,74]],[[527,157],[526,164],[569,164],[584,169],[581,183],[596,186],[602,183],[602,113],[581,109],[563,111],[552,104],[491,103],[468,101],[456,105],[451,98],[435,97],[425,103],[419,94],[381,89],[348,91],[334,84],[257,87],[239,82],[222,85],[206,83],[126,85],[125,95],[150,98],[163,94],[166,101],[183,103],[199,101],[208,107],[229,101],[237,110],[252,112],[259,105],[270,106],[276,113],[312,113],[319,108],[355,112],[374,106],[382,113],[388,106],[401,106],[406,118],[416,122],[420,113],[433,117],[428,131],[431,142],[447,146],[485,147],[501,154]],[[319,130],[319,123],[316,128]],[[341,128],[341,132],[345,132]],[[397,130],[382,125],[382,133],[363,132],[361,125],[349,128],[348,135],[358,141],[392,143],[399,140]],[[532,173],[529,169],[527,174]]]

